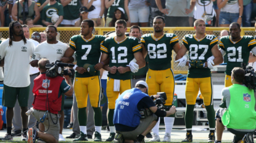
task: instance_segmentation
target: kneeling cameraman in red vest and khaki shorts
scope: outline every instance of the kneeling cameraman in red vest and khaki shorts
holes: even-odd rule
[[[60,124],[58,123],[62,102],[62,95],[73,95],[71,77],[64,75],[67,83],[62,76],[46,77],[46,64],[49,60],[42,58],[38,61],[40,75],[34,80],[33,93],[33,112],[36,120],[43,122],[46,133],[37,132],[30,128],[28,131],[28,142],[35,142],[36,139],[43,139],[45,142],[58,142]]]

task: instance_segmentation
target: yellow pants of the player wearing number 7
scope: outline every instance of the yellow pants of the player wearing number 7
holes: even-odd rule
[[[88,94],[92,107],[101,106],[101,79],[98,75],[76,77],[74,90],[78,108],[87,107]]]

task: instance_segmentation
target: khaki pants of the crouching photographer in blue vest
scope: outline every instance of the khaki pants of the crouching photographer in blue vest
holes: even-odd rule
[[[133,131],[116,131],[123,135],[123,139],[135,140],[139,134],[143,133],[153,121],[157,120],[157,115],[152,114],[147,118],[141,118],[139,126]]]

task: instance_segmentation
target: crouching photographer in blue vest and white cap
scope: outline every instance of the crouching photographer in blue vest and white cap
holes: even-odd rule
[[[147,83],[140,80],[135,88],[126,90],[115,101],[114,125],[116,135],[114,142],[144,142],[144,136],[155,126],[159,117],[168,117],[175,114],[175,106],[170,110],[160,110],[146,94]],[[140,110],[149,109],[154,114],[141,118]]]

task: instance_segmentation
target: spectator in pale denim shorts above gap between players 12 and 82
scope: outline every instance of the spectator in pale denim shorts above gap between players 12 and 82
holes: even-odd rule
[[[140,25],[141,27],[147,27],[149,22],[149,0],[130,0],[129,2],[129,12],[131,15],[131,26]]]

